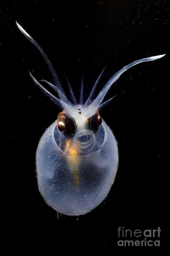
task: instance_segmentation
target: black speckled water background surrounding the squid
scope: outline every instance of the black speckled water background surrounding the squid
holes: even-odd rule
[[[169,8],[162,0],[0,1],[0,256],[170,255]],[[84,70],[87,97],[106,64],[97,92],[124,65],[166,53],[109,91],[118,96],[100,114],[118,141],[119,167],[107,199],[84,216],[57,219],[39,194],[36,148],[60,110],[30,79],[28,70],[53,82],[15,20],[46,52],[67,95],[64,74],[79,96]],[[118,227],[160,227],[161,246],[119,247]]]

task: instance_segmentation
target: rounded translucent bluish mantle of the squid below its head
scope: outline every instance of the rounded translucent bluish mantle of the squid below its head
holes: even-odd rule
[[[86,214],[105,199],[112,187],[118,168],[117,142],[102,120],[100,149],[86,155],[70,156],[59,148],[59,134],[55,128],[56,121],[44,132],[38,144],[39,192],[49,206],[62,214]]]

